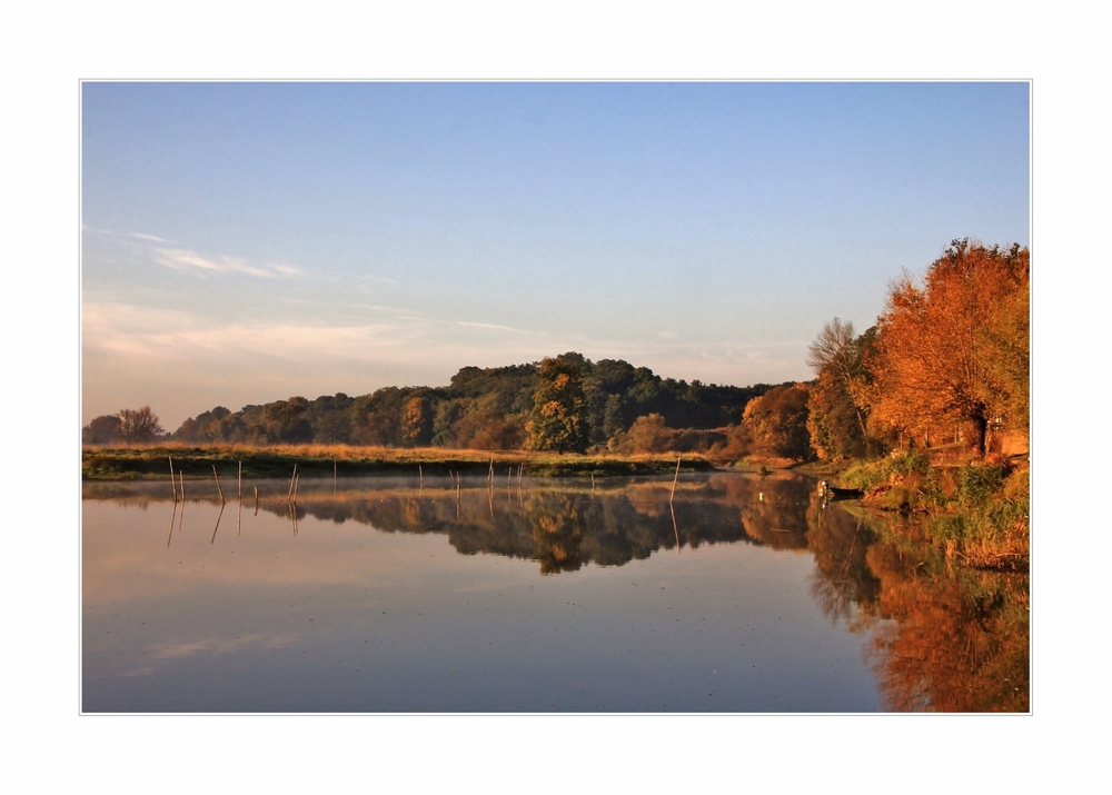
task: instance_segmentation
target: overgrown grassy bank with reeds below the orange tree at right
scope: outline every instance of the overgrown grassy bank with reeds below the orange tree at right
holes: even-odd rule
[[[857,464],[838,481],[865,491],[863,505],[924,517],[946,558],[977,568],[1025,569],[1031,486],[1026,459],[932,466],[914,453]]]

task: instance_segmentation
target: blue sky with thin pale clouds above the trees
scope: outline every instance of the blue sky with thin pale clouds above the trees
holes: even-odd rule
[[[1011,82],[103,82],[82,421],[445,386],[576,350],[813,377],[955,238],[1030,245]]]

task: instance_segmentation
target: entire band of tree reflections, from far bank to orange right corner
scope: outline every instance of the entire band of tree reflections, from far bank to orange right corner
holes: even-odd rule
[[[446,534],[459,554],[534,560],[542,575],[589,564],[620,566],[677,545],[745,543],[810,553],[811,596],[831,622],[862,638],[887,709],[1030,709],[1025,574],[950,569],[916,538],[914,524],[852,501],[824,506],[808,478],[687,476],[676,489],[674,510],[669,487],[634,479],[590,488],[552,479],[525,488],[476,481],[457,493],[447,479],[438,486],[424,478],[419,489],[380,480],[336,493],[329,480],[319,488],[302,485],[292,509],[277,487],[280,496],[260,505],[291,515],[295,527],[311,515],[385,533]],[[86,499],[97,498],[148,509],[169,503],[170,493],[165,484],[87,484]],[[183,510],[175,506],[179,527]],[[178,536],[172,521],[168,541]]]

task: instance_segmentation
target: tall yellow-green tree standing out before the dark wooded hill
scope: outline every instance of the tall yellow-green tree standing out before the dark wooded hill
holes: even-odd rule
[[[590,427],[578,364],[565,356],[545,358],[536,378],[533,414],[526,426],[529,447],[583,453],[590,440]]]

